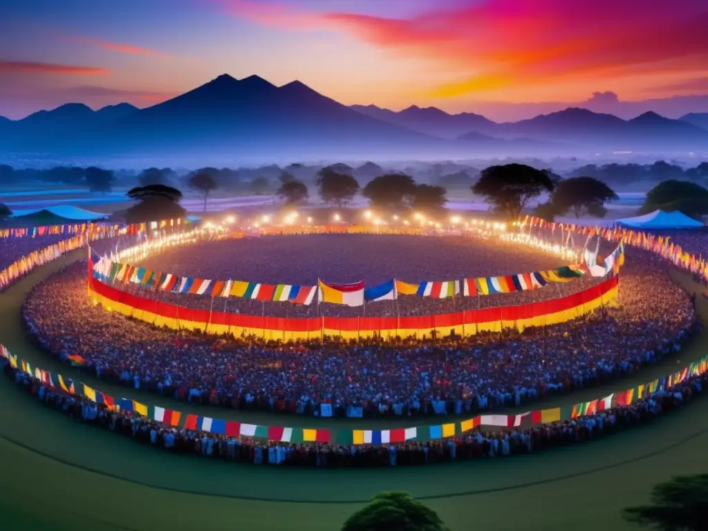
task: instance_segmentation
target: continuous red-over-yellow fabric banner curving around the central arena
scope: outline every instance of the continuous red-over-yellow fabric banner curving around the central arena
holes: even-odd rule
[[[174,330],[197,330],[232,336],[258,336],[273,341],[295,341],[321,336],[344,339],[381,336],[430,336],[452,333],[474,336],[503,329],[523,331],[589,315],[617,304],[619,276],[612,276],[585,290],[540,302],[462,310],[448,314],[389,317],[272,317],[238,312],[178,307],[122,291],[89,275],[89,295],[106,310]]]

